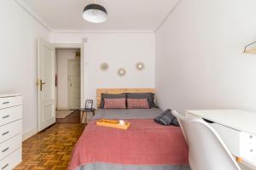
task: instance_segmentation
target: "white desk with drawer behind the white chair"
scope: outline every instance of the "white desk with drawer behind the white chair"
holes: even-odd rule
[[[256,113],[239,110],[186,111],[186,116],[201,117],[210,125],[230,152],[256,169]]]

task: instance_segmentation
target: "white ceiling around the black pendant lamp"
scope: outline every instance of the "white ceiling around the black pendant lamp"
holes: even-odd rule
[[[108,10],[108,21],[91,24],[82,18],[93,0],[23,0],[53,30],[154,31],[178,0],[97,0]]]

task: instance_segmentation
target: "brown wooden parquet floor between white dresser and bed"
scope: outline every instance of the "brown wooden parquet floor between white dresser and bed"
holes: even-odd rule
[[[82,124],[55,124],[23,142],[23,157],[15,170],[67,169],[74,144],[83,133]]]

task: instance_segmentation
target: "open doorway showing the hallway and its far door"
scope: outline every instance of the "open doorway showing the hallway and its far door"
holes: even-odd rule
[[[56,122],[79,122],[81,108],[80,48],[56,48]]]

